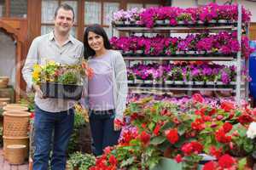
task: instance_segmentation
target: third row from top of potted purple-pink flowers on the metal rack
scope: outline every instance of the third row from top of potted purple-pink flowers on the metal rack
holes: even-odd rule
[[[236,86],[236,67],[234,65],[204,62],[180,62],[164,65],[138,63],[127,68],[127,76],[131,88],[220,88],[217,90],[231,88],[233,90]],[[243,77],[247,81],[249,80],[246,74]]]

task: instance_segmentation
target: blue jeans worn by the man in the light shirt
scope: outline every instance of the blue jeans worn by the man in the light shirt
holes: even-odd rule
[[[50,113],[36,106],[33,170],[49,169],[50,150],[53,151],[50,162],[51,169],[66,169],[66,150],[68,140],[73,132],[73,120],[73,109]]]

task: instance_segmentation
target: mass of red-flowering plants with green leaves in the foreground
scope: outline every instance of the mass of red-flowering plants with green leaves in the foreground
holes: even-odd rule
[[[119,144],[107,148],[90,170],[170,169],[160,167],[163,158],[176,161],[177,170],[197,169],[201,163],[204,170],[251,169],[255,109],[230,101],[208,105],[204,100],[194,94],[183,105],[150,98],[131,103],[125,111],[131,125],[125,127]]]

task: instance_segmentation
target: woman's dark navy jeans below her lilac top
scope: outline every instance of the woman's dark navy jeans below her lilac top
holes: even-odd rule
[[[105,147],[118,144],[120,131],[113,130],[115,113],[110,111],[90,111],[90,131],[93,139],[93,153],[96,156],[102,155]]]

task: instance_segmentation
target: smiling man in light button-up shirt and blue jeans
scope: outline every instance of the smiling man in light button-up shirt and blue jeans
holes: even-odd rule
[[[83,56],[83,43],[70,35],[74,24],[73,8],[62,4],[56,8],[54,19],[54,30],[33,40],[22,69],[27,88],[36,91],[33,170],[48,169],[50,150],[53,151],[51,169],[65,170],[67,143],[73,131],[75,101],[45,99],[40,87],[32,83],[33,65],[44,65],[47,60],[72,65],[78,63]]]

